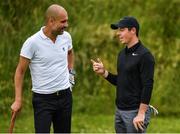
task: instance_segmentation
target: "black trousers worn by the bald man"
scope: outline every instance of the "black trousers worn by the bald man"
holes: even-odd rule
[[[71,132],[72,92],[70,89],[53,94],[33,93],[34,125],[36,133]]]

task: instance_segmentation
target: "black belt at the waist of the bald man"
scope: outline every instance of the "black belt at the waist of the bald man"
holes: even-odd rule
[[[61,96],[61,95],[65,95],[70,91],[70,88],[67,89],[63,89],[63,90],[59,90],[55,93],[52,94],[40,94],[40,93],[35,93],[33,92],[34,96],[41,96],[41,97],[53,97],[53,96]],[[70,91],[71,92],[71,91]]]

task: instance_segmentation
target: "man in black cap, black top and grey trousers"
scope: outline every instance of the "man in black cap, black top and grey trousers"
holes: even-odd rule
[[[124,17],[111,28],[117,30],[120,42],[126,45],[118,55],[117,74],[108,72],[100,59],[91,60],[93,70],[116,86],[116,132],[145,132],[151,113],[154,57],[139,40],[139,23],[134,17]]]

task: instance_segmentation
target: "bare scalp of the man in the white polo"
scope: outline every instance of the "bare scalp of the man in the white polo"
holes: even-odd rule
[[[59,18],[61,15],[67,14],[66,10],[57,4],[53,4],[48,7],[45,14],[45,21],[48,22],[49,18]]]

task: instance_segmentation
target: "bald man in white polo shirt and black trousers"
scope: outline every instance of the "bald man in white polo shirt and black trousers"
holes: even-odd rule
[[[36,133],[49,133],[51,123],[55,133],[70,133],[72,93],[69,81],[74,55],[68,27],[68,14],[60,6],[51,5],[45,14],[45,26],[23,44],[15,72],[17,113],[22,107],[23,79],[29,66],[32,78],[34,126]]]

